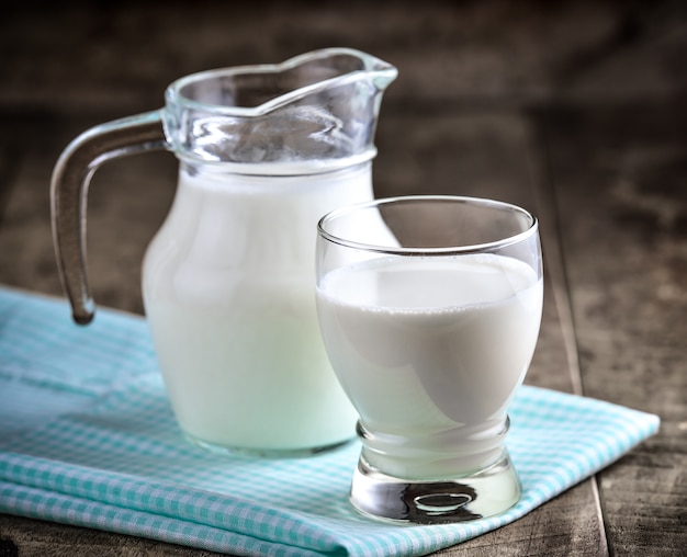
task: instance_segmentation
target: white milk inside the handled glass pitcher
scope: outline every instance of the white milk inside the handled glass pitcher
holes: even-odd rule
[[[319,217],[372,198],[370,163],[315,175],[192,175],[144,262],[144,300],[181,428],[212,445],[323,447],[356,411],[317,327]]]

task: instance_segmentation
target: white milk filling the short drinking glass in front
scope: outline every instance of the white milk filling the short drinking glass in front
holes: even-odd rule
[[[374,259],[326,275],[317,298],[329,357],[371,434],[371,465],[442,477],[498,459],[541,320],[542,281],[529,265]]]

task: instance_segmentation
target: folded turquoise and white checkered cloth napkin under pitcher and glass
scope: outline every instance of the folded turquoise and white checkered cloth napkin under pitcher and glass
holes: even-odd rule
[[[0,288],[0,512],[249,556],[424,555],[513,522],[653,434],[655,416],[522,387],[510,511],[394,526],[358,515],[359,446],[300,459],[228,457],[183,441],[145,320]]]

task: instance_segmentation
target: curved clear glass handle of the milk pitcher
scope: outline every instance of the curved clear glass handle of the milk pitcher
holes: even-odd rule
[[[168,148],[162,110],[158,110],[94,126],[74,139],[57,160],[50,182],[53,241],[77,323],[87,325],[94,316],[86,263],[87,194],[93,172],[114,158]]]

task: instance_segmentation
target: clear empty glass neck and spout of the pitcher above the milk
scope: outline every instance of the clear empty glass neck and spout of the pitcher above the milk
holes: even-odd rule
[[[351,48],[194,73],[167,90],[167,137],[189,162],[237,163],[241,173],[349,166],[376,154],[382,95],[396,76]]]

